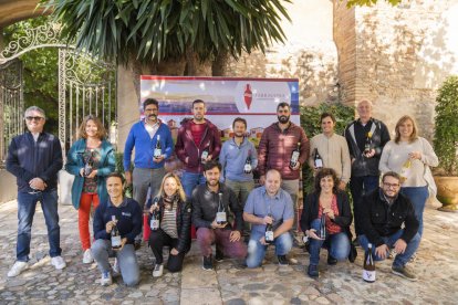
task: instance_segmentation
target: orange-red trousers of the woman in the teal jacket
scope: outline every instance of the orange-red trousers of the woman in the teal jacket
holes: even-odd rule
[[[80,241],[83,250],[91,249],[91,233],[89,229],[91,203],[95,210],[98,207],[98,196],[96,193],[82,192],[80,209],[77,210],[77,228],[80,229]]]

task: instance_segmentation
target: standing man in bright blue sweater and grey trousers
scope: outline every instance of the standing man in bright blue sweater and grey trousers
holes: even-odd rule
[[[134,199],[143,207],[148,187],[156,194],[165,176],[165,160],[173,154],[174,141],[168,126],[157,118],[159,103],[154,98],[143,102],[145,118],[132,126],[124,147],[124,170],[127,185],[134,183]],[[155,149],[160,143],[160,151]],[[131,173],[132,149],[135,147],[134,172]]]

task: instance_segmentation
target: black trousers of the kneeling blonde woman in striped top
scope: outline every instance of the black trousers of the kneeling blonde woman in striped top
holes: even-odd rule
[[[149,234],[149,246],[156,257],[156,264],[164,262],[163,248],[169,246],[169,251],[178,245],[178,239],[170,238],[163,229],[152,231]],[[185,252],[179,252],[177,255],[168,254],[167,269],[169,272],[179,272],[183,269],[183,261],[185,260]]]

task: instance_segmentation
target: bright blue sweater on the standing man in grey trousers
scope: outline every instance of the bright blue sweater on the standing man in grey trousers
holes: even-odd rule
[[[156,147],[157,135],[160,135],[160,144],[165,159],[162,162],[153,161],[153,152]],[[174,152],[174,140],[167,125],[160,123],[153,139],[145,129],[145,122],[135,123],[128,133],[124,146],[124,170],[131,169],[132,149],[135,146],[134,166],[137,168],[163,168],[165,160]]]

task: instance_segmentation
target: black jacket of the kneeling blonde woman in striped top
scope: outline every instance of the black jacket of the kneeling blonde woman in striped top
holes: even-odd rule
[[[146,207],[152,207],[152,200],[148,200]],[[163,198],[159,199],[159,221],[162,223],[164,218],[164,200]],[[150,223],[152,213],[148,215],[148,223]],[[183,202],[181,200],[178,201],[177,204],[177,234],[178,234],[178,252],[187,253],[190,250],[191,245],[191,235],[190,235],[190,225],[191,225],[191,204],[187,200]]]

